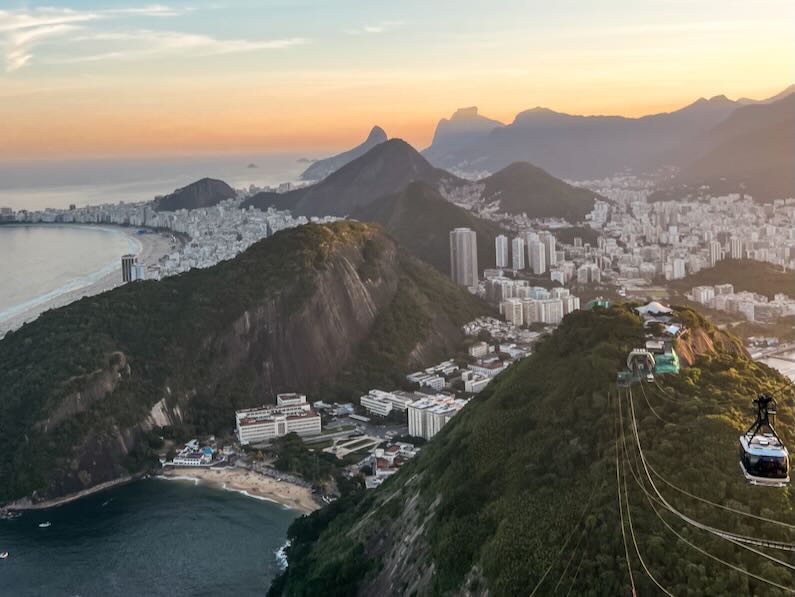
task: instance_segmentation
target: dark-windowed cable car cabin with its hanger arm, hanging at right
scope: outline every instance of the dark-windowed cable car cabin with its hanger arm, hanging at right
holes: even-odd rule
[[[740,436],[740,468],[751,485],[784,487],[789,483],[789,453],[770,422],[776,401],[761,394],[753,403],[756,420]]]

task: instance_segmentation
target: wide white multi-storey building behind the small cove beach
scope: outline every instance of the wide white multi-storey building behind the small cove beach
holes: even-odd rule
[[[303,394],[278,394],[276,406],[260,406],[235,413],[237,439],[242,445],[263,443],[288,433],[301,436],[321,431],[320,415]]]

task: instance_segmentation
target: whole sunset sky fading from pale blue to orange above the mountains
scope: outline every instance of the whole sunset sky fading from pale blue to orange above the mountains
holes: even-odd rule
[[[426,147],[476,105],[639,116],[795,81],[791,0],[0,0],[0,159]]]

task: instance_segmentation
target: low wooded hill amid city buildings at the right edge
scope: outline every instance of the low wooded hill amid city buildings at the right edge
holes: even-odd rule
[[[760,263],[749,259],[724,259],[715,267],[703,269],[680,280],[669,283],[679,292],[690,291],[694,286],[714,286],[732,284],[735,292],[743,290],[763,294],[773,298],[776,294],[786,294],[795,298],[795,274],[784,271],[770,263]]]

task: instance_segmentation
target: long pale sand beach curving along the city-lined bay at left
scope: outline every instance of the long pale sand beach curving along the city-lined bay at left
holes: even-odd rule
[[[75,225],[80,226],[80,224],[75,224]],[[85,224],[85,226],[90,226],[90,224]],[[103,224],[102,228],[106,228],[109,230],[118,230],[123,234],[125,234],[126,236],[133,238],[135,241],[137,241],[137,243],[140,245],[139,250],[137,252],[138,260],[147,265],[154,265],[158,263],[161,257],[164,257],[173,250],[171,247],[171,236],[164,233],[152,232],[150,234],[139,235],[136,233],[137,228],[113,226],[110,224],[108,225]],[[59,294],[58,296],[55,296],[50,300],[31,306],[30,309],[27,309],[25,311],[13,315],[12,317],[9,317],[8,319],[0,321],[0,338],[2,338],[7,332],[17,329],[23,323],[33,321],[45,311],[49,311],[50,309],[57,309],[58,307],[63,307],[64,305],[73,303],[76,300],[79,300],[86,296],[93,296],[96,294],[100,294],[102,292],[105,292],[106,290],[111,290],[116,286],[121,286],[121,284],[122,284],[121,260],[119,260],[118,267],[108,272],[101,278],[97,279],[92,284],[88,284],[86,286],[82,286],[75,290]]]

